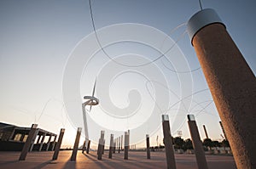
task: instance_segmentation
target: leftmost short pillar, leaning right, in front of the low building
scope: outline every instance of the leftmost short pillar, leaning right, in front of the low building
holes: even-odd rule
[[[27,152],[32,144],[33,138],[35,138],[35,135],[37,134],[37,124],[32,124],[32,127],[28,133],[28,137],[26,138],[26,143],[23,145],[23,148],[20,153],[19,161],[25,161]]]

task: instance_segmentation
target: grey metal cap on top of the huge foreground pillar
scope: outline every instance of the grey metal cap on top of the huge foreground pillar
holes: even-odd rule
[[[193,37],[201,30],[201,28],[214,23],[223,24],[218,14],[212,8],[205,8],[194,14],[188,21],[188,34],[189,39],[193,45]]]

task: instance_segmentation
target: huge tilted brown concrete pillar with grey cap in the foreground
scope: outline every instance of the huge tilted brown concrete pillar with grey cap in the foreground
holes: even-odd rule
[[[188,32],[230,142],[236,166],[256,166],[256,78],[218,14],[204,9]]]

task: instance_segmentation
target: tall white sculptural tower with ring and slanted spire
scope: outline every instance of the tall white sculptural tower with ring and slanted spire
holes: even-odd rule
[[[84,132],[85,132],[85,147],[86,147],[86,149],[89,149],[90,145],[88,144],[89,143],[89,133],[88,133],[88,126],[87,126],[85,107],[86,107],[86,105],[90,105],[90,110],[91,110],[91,106],[99,104],[99,99],[94,97],[95,89],[96,89],[96,80],[94,82],[94,87],[93,87],[93,90],[92,90],[92,95],[91,96],[84,96],[84,99],[86,101],[82,104],[83,117],[84,117]],[[88,150],[87,150],[87,152],[88,152]]]

